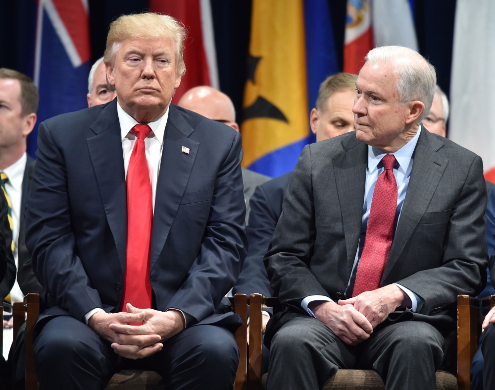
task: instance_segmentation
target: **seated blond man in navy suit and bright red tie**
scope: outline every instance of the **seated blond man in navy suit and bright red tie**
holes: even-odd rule
[[[103,389],[126,367],[232,389],[240,318],[214,309],[246,256],[241,137],[170,104],[184,36],[167,15],[121,16],[104,57],[117,100],[40,125],[26,245],[50,306],[41,389]]]

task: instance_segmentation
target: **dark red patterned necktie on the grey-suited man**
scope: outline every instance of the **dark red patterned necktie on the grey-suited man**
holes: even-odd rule
[[[394,240],[397,209],[397,182],[394,176],[394,155],[382,159],[385,170],[378,176],[371,201],[368,228],[363,252],[357,266],[352,296],[380,287],[383,270]]]

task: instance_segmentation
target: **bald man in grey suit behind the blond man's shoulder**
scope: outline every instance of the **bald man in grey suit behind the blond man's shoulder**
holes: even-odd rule
[[[178,103],[179,107],[197,112],[208,119],[225,123],[234,130],[239,131],[236,122],[236,110],[230,98],[224,93],[208,86],[191,88],[187,91]],[[244,183],[244,201],[246,202],[246,225],[249,219],[249,199],[254,193],[254,189],[271,177],[242,168]]]

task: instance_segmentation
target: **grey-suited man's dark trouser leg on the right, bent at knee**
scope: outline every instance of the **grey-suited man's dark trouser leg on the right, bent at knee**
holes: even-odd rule
[[[436,390],[444,337],[432,325],[404,321],[375,329],[357,347],[356,366],[373,369],[385,390]]]

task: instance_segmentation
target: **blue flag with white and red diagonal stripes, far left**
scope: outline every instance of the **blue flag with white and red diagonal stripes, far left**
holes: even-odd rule
[[[88,0],[39,0],[33,77],[40,92],[38,125],[88,107],[90,60]],[[28,153],[33,157],[38,125],[28,138]]]

